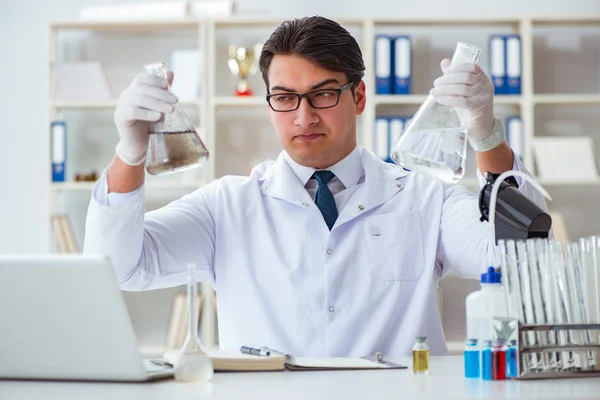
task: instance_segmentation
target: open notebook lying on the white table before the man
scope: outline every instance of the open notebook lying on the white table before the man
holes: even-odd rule
[[[238,350],[209,350],[215,372],[250,371],[333,371],[363,369],[404,369],[406,366],[392,362],[375,362],[361,357],[293,357],[275,353],[268,357],[243,354]],[[178,350],[167,350],[165,361],[175,365]]]

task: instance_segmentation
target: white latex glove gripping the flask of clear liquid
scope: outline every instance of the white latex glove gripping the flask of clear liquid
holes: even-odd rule
[[[492,134],[494,125],[494,84],[475,63],[441,63],[443,76],[433,82],[430,94],[438,103],[456,107],[465,122],[467,134],[479,141]]]

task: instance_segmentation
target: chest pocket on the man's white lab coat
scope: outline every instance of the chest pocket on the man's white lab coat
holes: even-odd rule
[[[365,223],[371,272],[386,281],[417,279],[425,268],[417,211],[372,215]]]

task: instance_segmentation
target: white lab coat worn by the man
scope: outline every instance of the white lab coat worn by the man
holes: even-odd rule
[[[477,196],[365,149],[361,162],[364,183],[331,232],[282,154],[145,215],[143,190],[124,205],[92,199],[85,251],[107,254],[125,290],[184,284],[195,263],[217,292],[222,348],[408,355],[425,335],[444,354],[438,280],[487,267]]]

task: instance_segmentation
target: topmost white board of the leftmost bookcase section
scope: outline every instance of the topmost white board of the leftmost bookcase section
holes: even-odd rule
[[[50,24],[53,30],[148,31],[197,28],[199,19],[182,18],[156,21],[58,21]]]

